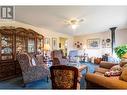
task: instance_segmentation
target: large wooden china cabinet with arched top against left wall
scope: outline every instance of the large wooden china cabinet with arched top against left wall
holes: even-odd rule
[[[44,36],[22,27],[0,28],[0,80],[21,75],[16,54],[21,51],[38,54],[43,52]]]

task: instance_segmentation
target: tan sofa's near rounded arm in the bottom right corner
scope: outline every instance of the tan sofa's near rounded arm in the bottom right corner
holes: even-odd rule
[[[105,77],[99,74],[86,74],[86,80],[110,89],[127,89],[127,82],[119,80],[119,76]]]

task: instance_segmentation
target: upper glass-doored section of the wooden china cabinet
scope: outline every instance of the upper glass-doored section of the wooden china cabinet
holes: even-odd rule
[[[16,60],[20,52],[43,53],[44,37],[31,29],[0,28],[0,62]]]

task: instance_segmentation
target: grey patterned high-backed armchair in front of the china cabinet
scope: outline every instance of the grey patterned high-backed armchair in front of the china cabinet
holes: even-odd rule
[[[17,60],[22,70],[24,84],[48,77],[48,68],[44,64],[41,65],[34,56],[28,53],[20,53],[17,54]],[[32,60],[34,60],[34,65]]]

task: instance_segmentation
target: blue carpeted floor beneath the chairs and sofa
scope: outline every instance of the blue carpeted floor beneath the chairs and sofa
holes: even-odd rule
[[[94,68],[98,65],[92,64],[92,63],[85,63],[81,62],[82,64],[86,64],[89,68],[89,72],[93,73]],[[86,71],[82,71],[83,76],[85,77]],[[82,77],[80,81],[80,86],[81,89],[85,89],[86,82],[84,77]],[[23,87],[23,81],[22,77],[17,77],[14,79],[6,80],[6,81],[1,81],[0,82],[0,89],[51,89],[51,81],[47,82],[46,78],[42,80],[38,80],[32,83],[29,83],[26,85],[26,87]]]

